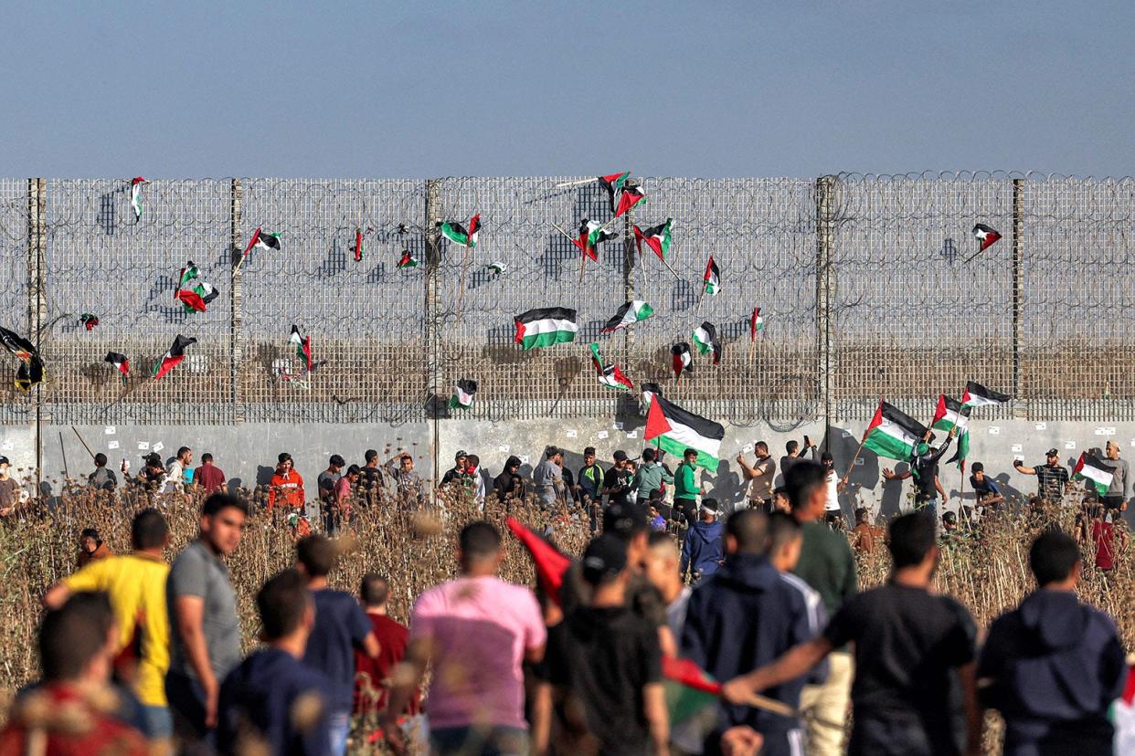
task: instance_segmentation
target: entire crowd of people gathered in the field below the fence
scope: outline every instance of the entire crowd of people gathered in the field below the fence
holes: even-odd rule
[[[352,722],[370,722],[354,736],[396,754],[976,754],[984,708],[1004,719],[1008,754],[1112,753],[1108,710],[1135,677],[1113,620],[1076,597],[1074,536],[1109,543],[1096,567],[1113,568],[1121,528],[1101,526],[1126,506],[1118,447],[1103,455],[1118,493],[1084,496],[1073,535],[1040,529],[1036,591],[981,644],[968,611],[932,588],[940,554],[978,513],[939,518],[928,506],[940,450],[911,460],[917,507],[886,527],[861,508],[843,525],[844,481],[809,439],[785,452],[780,477],[763,442],[751,462],[738,458],[750,485],[731,508],[699,484],[695,450],[674,469],[654,449],[616,451],[604,469],[588,448],[572,475],[549,447],[530,477],[512,457],[495,478],[462,451],[432,501],[407,453],[380,462],[370,450],[362,466],[333,455],[317,476],[316,528],[296,533],[294,567],[257,595],[261,646],[247,655],[226,559],[249,501],[225,493],[211,455],[194,467],[188,448],[165,466],[149,456],[135,478],[124,465],[133,485],[204,489],[197,537],[167,563],[160,509],[134,516],[128,553],[83,530],[76,571],[43,598],[42,679],[20,691],[0,753],[47,738],[95,753],[345,754]],[[0,490],[7,468],[0,459]],[[1031,507],[1071,485],[1056,450],[1017,469],[1039,479]],[[1008,508],[980,462],[970,481],[983,517]],[[118,485],[102,455],[89,485]],[[367,575],[356,595],[330,587],[334,536],[375,489],[407,509],[530,496],[574,511],[592,537],[553,579],[538,563],[533,592],[499,578],[501,530],[469,523],[459,577],[418,596],[404,626],[386,612],[387,578]],[[264,508],[305,517],[309,499],[280,453]],[[884,549],[890,578],[860,592],[855,552]],[[667,670],[679,660],[721,681],[716,704],[675,705]]]

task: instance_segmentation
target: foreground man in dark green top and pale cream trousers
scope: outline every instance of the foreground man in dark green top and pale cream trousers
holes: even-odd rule
[[[804,541],[800,560],[792,570],[797,577],[819,594],[829,617],[856,595],[858,578],[855,557],[842,533],[824,524],[827,502],[827,475],[815,462],[801,461],[784,476],[792,517],[800,524]],[[800,694],[800,710],[809,711],[807,717],[808,754],[832,756],[843,753],[843,728],[851,688],[852,663],[847,647],[832,652],[827,681],[805,686]]]

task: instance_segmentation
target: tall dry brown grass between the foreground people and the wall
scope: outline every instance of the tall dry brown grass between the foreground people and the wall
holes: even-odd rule
[[[294,535],[283,512],[262,510],[263,492],[245,492],[253,516],[236,553],[228,560],[238,598],[246,646],[254,645],[258,621],[253,597],[274,572],[292,564]],[[129,521],[135,511],[157,506],[169,519],[170,559],[195,535],[200,494],[149,495],[127,490],[118,495],[72,489],[49,502],[33,502],[0,525],[0,689],[14,689],[37,674],[34,632],[40,597],[56,580],[75,569],[77,536],[94,527],[116,552],[129,547]],[[392,583],[390,613],[405,621],[422,591],[456,574],[456,537],[461,527],[481,517],[504,530],[504,519],[515,516],[535,529],[548,529],[568,553],[579,554],[588,538],[587,520],[566,510],[546,512],[532,500],[502,504],[493,498],[481,515],[468,496],[451,496],[437,509],[409,512],[393,498],[360,500],[344,543],[353,544],[331,574],[334,587],[354,592],[365,572],[387,575]],[[1075,507],[1043,517],[1006,512],[987,518],[975,533],[942,549],[936,587],[965,604],[978,628],[986,628],[1001,612],[1033,589],[1028,546],[1044,527],[1073,533]],[[507,555],[503,577],[521,584],[533,581],[527,553],[505,538]],[[1135,569],[1128,543],[1109,574],[1094,566],[1094,544],[1084,543],[1084,580],[1081,596],[1107,611],[1119,627],[1128,653],[1135,652]],[[860,586],[878,585],[889,569],[885,550],[858,557]],[[995,733],[991,731],[991,742]],[[358,753],[365,753],[365,749]],[[993,753],[992,750],[990,753]]]

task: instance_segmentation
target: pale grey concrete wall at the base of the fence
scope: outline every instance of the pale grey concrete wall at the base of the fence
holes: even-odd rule
[[[535,467],[547,444],[568,450],[566,464],[573,470],[582,465],[585,447],[595,447],[604,466],[609,465],[611,455],[616,449],[623,449],[634,457],[644,447],[644,418],[634,413],[623,413],[617,419],[607,422],[595,418],[508,422],[442,419],[436,427],[438,474],[452,466],[457,450],[480,456],[482,466],[490,475],[496,475],[510,455],[520,457],[528,468]],[[114,433],[109,432],[111,428]],[[200,458],[204,451],[212,452],[229,478],[239,479],[244,485],[267,482],[276,455],[280,451],[293,455],[296,468],[305,479],[313,479],[325,469],[331,453],[343,455],[348,462],[361,464],[362,455],[369,448],[377,449],[384,456],[393,455],[398,448],[407,449],[414,455],[417,467],[423,477],[428,479],[432,472],[434,423],[398,426],[249,423],[227,427],[84,425],[77,430],[92,451],[107,453],[115,468],[125,457],[131,460],[132,468],[137,470],[142,456],[158,444],[162,447],[160,453],[166,457],[171,457],[179,445],[185,444],[193,448],[195,458]],[[90,457],[70,426],[45,425],[42,432],[44,478],[49,481],[61,477],[64,469],[60,433],[72,476],[86,474],[91,469]],[[861,433],[861,425],[832,428],[830,448],[835,457],[836,469],[841,473],[850,464]],[[1056,447],[1065,464],[1071,468],[1082,451],[1103,447],[1109,439],[1119,443],[1124,456],[1135,457],[1135,423],[973,421],[970,433],[969,462],[984,462],[986,473],[1009,495],[1022,498],[1036,491],[1036,478],[1016,473],[1012,468],[1014,458],[1022,458],[1028,466],[1040,465],[1044,461],[1044,452]],[[763,440],[768,442],[774,458],[779,460],[783,455],[784,443],[790,439],[799,441],[805,434],[818,442],[823,438],[823,424],[816,421],[793,430],[765,423],[754,426],[726,424],[721,451],[722,464],[716,473],[703,473],[706,489],[713,491],[718,500],[730,504],[741,501],[745,487],[735,462],[737,455],[745,452],[751,459],[754,442]],[[148,449],[140,448],[143,443]],[[34,427],[0,427],[0,455],[10,458],[14,468],[31,470],[35,465]],[[850,476],[851,486],[843,496],[848,513],[858,506],[856,502],[884,515],[894,513],[907,506],[910,482],[883,481],[883,467],[905,469],[902,464],[881,460],[871,452],[860,456]],[[962,485],[960,473],[953,465],[943,465],[940,477],[951,499],[947,509],[957,509]],[[967,499],[972,499],[968,481],[965,489]],[[1129,521],[1133,513],[1135,508],[1127,515]]]

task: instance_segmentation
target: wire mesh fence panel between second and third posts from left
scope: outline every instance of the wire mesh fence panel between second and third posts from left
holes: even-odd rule
[[[241,265],[244,417],[274,422],[420,419],[427,400],[424,187],[411,180],[244,179]],[[362,235],[359,260],[356,231]],[[306,374],[292,325],[311,338]]]

